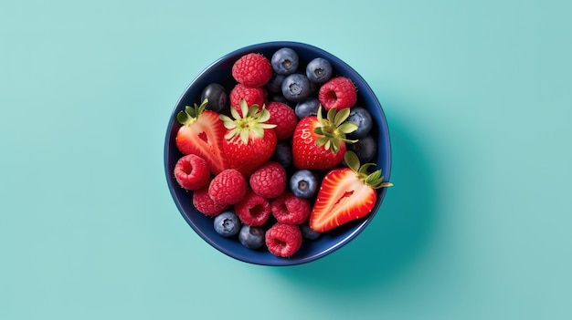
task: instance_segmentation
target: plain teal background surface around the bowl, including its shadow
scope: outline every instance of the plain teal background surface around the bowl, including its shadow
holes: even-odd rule
[[[572,318],[567,1],[0,0],[0,319]],[[381,212],[314,263],[228,258],[167,190],[211,62],[319,46],[383,105]]]

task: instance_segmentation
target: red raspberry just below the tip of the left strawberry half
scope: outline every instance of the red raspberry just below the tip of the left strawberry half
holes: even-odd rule
[[[247,181],[236,169],[220,171],[208,186],[208,195],[220,205],[235,204],[247,192]]]

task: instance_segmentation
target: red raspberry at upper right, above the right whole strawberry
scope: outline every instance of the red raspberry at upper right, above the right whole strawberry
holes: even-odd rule
[[[357,90],[349,78],[333,77],[320,88],[318,99],[326,110],[350,108],[357,100]]]

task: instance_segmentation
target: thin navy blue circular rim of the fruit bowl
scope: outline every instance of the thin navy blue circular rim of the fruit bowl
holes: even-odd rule
[[[193,88],[196,85],[196,83],[199,82],[203,77],[206,77],[206,75],[209,71],[212,71],[213,68],[217,67],[220,64],[227,62],[228,58],[235,57],[239,54],[246,54],[249,52],[258,52],[258,51],[260,51],[260,49],[264,50],[264,49],[267,49],[269,46],[304,47],[306,49],[312,50],[313,52],[319,52],[321,55],[323,55],[323,57],[329,58],[329,59],[334,59],[337,64],[341,64],[347,70],[349,70],[352,73],[352,77],[355,77],[355,78],[353,78],[354,82],[356,82],[356,80],[359,80],[359,82],[362,85],[359,89],[362,92],[365,91],[364,93],[362,93],[362,95],[373,97],[373,99],[376,101],[376,108],[378,108],[380,117],[381,117],[381,119],[383,119],[382,126],[380,126],[381,128],[378,128],[378,129],[383,130],[384,135],[387,137],[387,139],[385,141],[385,143],[386,143],[386,149],[385,150],[387,150],[387,153],[385,154],[385,159],[384,159],[386,161],[385,163],[387,163],[387,168],[384,170],[383,175],[385,177],[385,180],[388,181],[390,174],[391,174],[391,157],[392,157],[390,132],[388,129],[385,111],[382,108],[381,103],[379,102],[379,99],[376,97],[375,92],[369,86],[369,84],[365,81],[365,78],[362,77],[357,71],[355,71],[355,69],[353,67],[351,67],[347,63],[345,63],[344,60],[342,60],[341,58],[334,56],[330,52],[325,51],[324,49],[322,49],[320,47],[312,46],[312,45],[302,43],[302,42],[297,42],[297,41],[270,41],[270,42],[261,42],[258,44],[252,44],[249,46],[239,47],[238,49],[235,49],[235,50],[223,55],[222,57],[217,58],[217,60],[215,60],[210,65],[205,67],[201,72],[199,72],[196,75],[196,77],[189,83],[189,85],[186,86],[186,88],[183,91],[183,93],[181,94],[181,96],[177,99],[177,101],[175,103],[175,108],[172,110],[171,116],[169,117],[169,122],[167,123],[167,129],[166,129],[166,134],[165,134],[165,139],[164,139],[164,155],[163,155],[163,157],[164,157],[164,174],[165,174],[167,186],[168,186],[170,194],[171,194],[171,198],[175,202],[175,206],[177,207],[177,210],[185,219],[185,222],[187,222],[187,224],[189,224],[189,226],[196,232],[197,235],[199,235],[200,238],[202,238],[210,246],[217,249],[217,251],[219,251],[220,253],[224,253],[230,258],[236,259],[236,260],[244,262],[244,263],[251,263],[251,264],[258,264],[258,265],[265,265],[265,266],[289,266],[289,265],[297,265],[297,264],[303,264],[303,263],[311,263],[311,262],[316,261],[320,258],[323,258],[324,256],[326,256],[330,253],[334,253],[338,249],[342,248],[345,244],[350,243],[353,239],[355,239],[355,237],[359,233],[363,232],[365,230],[365,227],[376,216],[376,213],[380,211],[381,204],[384,201],[385,195],[387,193],[387,188],[382,188],[381,191],[378,193],[376,206],[374,207],[374,210],[372,212],[370,212],[365,218],[363,218],[361,222],[357,223],[354,230],[349,232],[343,238],[337,240],[332,245],[328,246],[326,249],[324,249],[318,253],[306,255],[302,258],[297,258],[297,259],[291,259],[291,258],[274,259],[274,258],[278,258],[278,257],[272,257],[273,261],[268,262],[268,261],[264,261],[265,259],[249,260],[245,255],[234,253],[234,252],[228,250],[228,248],[226,248],[225,246],[219,245],[218,243],[211,241],[210,236],[207,235],[205,232],[203,232],[201,230],[201,228],[198,228],[196,226],[196,224],[194,222],[190,221],[189,218],[186,216],[185,210],[182,206],[182,203],[179,201],[178,197],[175,194],[174,188],[176,186],[174,186],[172,183],[171,172],[168,168],[169,148],[170,148],[169,142],[170,142],[170,136],[171,136],[172,127],[173,127],[172,122],[174,121],[175,115],[176,115],[177,111],[179,110],[179,107],[180,107],[182,101],[184,100],[185,96],[187,95],[187,92],[189,92],[189,90],[191,90],[191,88]],[[378,144],[379,144],[379,141],[378,141]]]

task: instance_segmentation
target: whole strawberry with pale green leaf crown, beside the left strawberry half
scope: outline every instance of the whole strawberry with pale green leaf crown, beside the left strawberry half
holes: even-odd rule
[[[222,149],[230,168],[238,170],[245,177],[257,170],[272,157],[276,149],[276,133],[274,124],[267,123],[270,112],[264,106],[248,106],[240,101],[240,114],[230,108],[234,119],[220,115],[227,129],[222,140]]]

